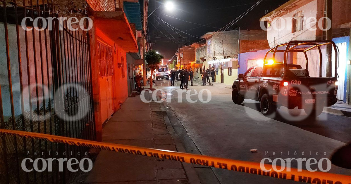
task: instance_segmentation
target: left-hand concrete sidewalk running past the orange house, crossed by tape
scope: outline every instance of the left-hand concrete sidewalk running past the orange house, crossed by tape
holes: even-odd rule
[[[127,98],[106,123],[102,139],[108,143],[177,151],[168,129],[160,104],[144,103],[137,95]],[[181,162],[101,150],[85,183],[197,183],[193,182],[194,176],[189,179],[185,169]]]

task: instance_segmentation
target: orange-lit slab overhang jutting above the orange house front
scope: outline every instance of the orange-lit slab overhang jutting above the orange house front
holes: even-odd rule
[[[138,52],[137,40],[122,11],[94,12],[94,26],[126,52]]]

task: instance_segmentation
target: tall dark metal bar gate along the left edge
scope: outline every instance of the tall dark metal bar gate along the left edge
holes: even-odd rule
[[[59,30],[57,19],[52,30],[43,28],[42,22],[39,30],[30,22],[22,26],[24,17],[59,14],[53,13],[52,0],[18,2],[0,1],[0,128],[94,140],[88,33],[67,26]],[[1,135],[0,141],[0,183],[66,183],[71,172],[65,167],[59,172],[58,162],[52,162],[52,172],[25,172],[21,162],[25,158],[79,160],[87,151],[8,135]]]

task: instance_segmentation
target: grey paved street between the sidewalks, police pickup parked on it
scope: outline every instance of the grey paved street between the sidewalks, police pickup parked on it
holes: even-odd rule
[[[179,82],[178,87],[171,87],[166,80],[157,81],[157,84],[155,88],[166,91],[179,89]],[[201,89],[210,90],[211,100],[208,103],[199,100],[195,103],[188,102],[185,94],[194,94],[191,89],[197,93]],[[292,122],[284,118],[274,120],[260,113],[256,101],[245,100],[242,105],[234,104],[231,89],[189,86],[186,93],[178,95],[177,91],[172,91],[166,95],[167,102],[163,105],[174,130],[189,153],[252,162],[260,162],[266,157],[272,160],[278,157],[319,160],[330,158],[336,149],[350,142],[350,117],[322,113],[315,121]],[[203,100],[210,96],[207,92],[200,94],[203,94]],[[178,102],[180,97],[181,102]],[[198,95],[191,96],[191,100],[197,99]],[[286,109],[279,111],[283,117],[287,114]],[[304,116],[304,113],[300,115]],[[257,153],[250,151],[253,148],[258,150]],[[296,166],[297,162],[292,162],[292,167]],[[199,165],[194,167],[201,183],[294,183]],[[329,172],[350,175],[350,170],[335,165],[332,165]]]

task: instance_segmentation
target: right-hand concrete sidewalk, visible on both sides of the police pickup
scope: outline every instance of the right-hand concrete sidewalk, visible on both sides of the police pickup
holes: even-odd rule
[[[219,88],[232,89],[231,85],[223,84],[219,82],[211,82],[211,83],[207,82],[206,85],[208,84]],[[336,104],[331,105],[330,107],[324,107],[323,111],[325,113],[351,117],[351,105],[345,104],[342,101],[338,101]]]

